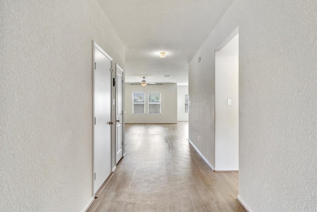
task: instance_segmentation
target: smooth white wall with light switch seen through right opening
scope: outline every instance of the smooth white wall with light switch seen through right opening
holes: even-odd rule
[[[214,76],[214,169],[239,170],[239,35],[215,52]]]

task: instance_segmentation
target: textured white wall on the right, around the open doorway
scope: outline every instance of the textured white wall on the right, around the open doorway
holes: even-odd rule
[[[189,65],[189,138],[214,164],[214,51],[239,26],[239,197],[254,212],[317,209],[316,11],[234,0]]]

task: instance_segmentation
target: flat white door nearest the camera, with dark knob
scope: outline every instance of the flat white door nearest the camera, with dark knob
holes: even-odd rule
[[[94,194],[111,173],[111,60],[94,46]]]

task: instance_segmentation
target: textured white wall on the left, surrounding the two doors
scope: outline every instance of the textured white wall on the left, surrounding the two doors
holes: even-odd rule
[[[124,68],[97,0],[0,3],[0,211],[82,211],[93,196],[93,43]]]

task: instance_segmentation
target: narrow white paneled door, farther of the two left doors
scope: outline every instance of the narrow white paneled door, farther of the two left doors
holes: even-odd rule
[[[116,107],[116,157],[115,163],[117,164],[119,160],[122,158],[122,133],[123,133],[123,125],[122,125],[122,103],[123,103],[123,70],[116,65],[116,100],[117,100],[117,107]]]

